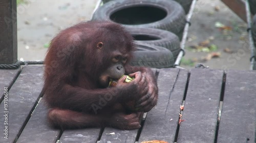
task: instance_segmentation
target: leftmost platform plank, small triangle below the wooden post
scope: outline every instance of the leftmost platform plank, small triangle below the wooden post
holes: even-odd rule
[[[14,80],[17,78],[21,68],[14,70],[0,70],[0,98],[4,98],[4,88],[10,89]],[[2,100],[1,100],[2,101]]]

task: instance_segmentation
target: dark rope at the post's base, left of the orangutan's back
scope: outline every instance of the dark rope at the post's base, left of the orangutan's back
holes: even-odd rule
[[[15,64],[0,64],[0,69],[17,69],[20,65],[42,65],[44,61],[17,61]]]

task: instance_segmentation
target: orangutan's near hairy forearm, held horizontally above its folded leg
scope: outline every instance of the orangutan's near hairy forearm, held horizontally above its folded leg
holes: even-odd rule
[[[130,90],[125,88],[106,88],[87,90],[80,87],[73,87],[63,83],[56,88],[46,88],[46,101],[52,107],[69,108],[81,111],[95,108],[104,108],[125,100],[129,97]],[[122,96],[127,95],[127,96]]]

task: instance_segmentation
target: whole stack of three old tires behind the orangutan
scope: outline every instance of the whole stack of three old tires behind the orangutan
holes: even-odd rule
[[[173,67],[181,50],[180,40],[186,24],[185,11],[188,12],[192,0],[177,0],[183,7],[172,0],[104,0],[103,2],[104,5],[95,11],[92,20],[113,21],[122,24],[131,33],[138,48],[135,51],[135,60],[140,60],[133,61],[133,65],[137,63],[141,66],[144,63],[143,66],[153,68]],[[168,53],[166,49],[170,51],[170,56],[164,56],[165,62],[162,62],[163,59],[157,57],[161,56],[161,53]],[[155,55],[152,54],[153,52]],[[152,59],[155,60],[152,62]]]

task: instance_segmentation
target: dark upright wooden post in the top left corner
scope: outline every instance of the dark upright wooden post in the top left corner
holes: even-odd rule
[[[0,64],[17,62],[16,0],[0,1]]]

